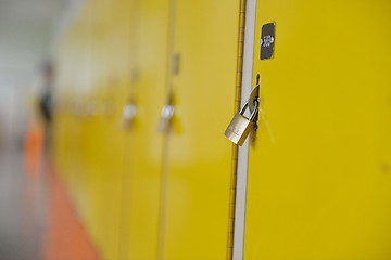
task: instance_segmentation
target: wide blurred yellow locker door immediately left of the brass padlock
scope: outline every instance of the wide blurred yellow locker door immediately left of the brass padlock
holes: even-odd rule
[[[163,258],[226,259],[239,1],[176,1]]]

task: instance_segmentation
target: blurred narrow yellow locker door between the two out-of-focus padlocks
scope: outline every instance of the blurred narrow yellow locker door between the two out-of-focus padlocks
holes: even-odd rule
[[[157,256],[163,136],[157,132],[167,65],[168,0],[135,1],[129,101],[136,118],[128,131],[124,177],[122,259]]]

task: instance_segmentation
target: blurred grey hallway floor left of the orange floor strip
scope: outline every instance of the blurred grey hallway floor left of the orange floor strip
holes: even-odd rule
[[[7,260],[40,259],[45,223],[42,180],[25,173],[20,148],[0,154],[0,256]]]

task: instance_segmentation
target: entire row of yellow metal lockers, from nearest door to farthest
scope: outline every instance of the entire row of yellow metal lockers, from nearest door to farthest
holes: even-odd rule
[[[390,11],[86,1],[55,56],[54,153],[102,257],[390,259]],[[238,150],[223,133],[257,81]]]

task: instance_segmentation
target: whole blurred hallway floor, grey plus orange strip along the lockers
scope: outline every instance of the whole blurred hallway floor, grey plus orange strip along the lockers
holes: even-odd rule
[[[99,259],[50,164],[31,179],[20,148],[0,154],[0,259]]]

